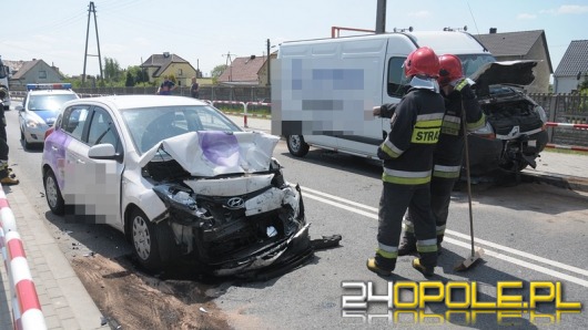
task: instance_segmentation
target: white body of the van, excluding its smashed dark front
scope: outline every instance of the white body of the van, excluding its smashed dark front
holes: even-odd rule
[[[272,133],[304,156],[316,146],[377,158],[389,120],[372,109],[397,103],[407,81],[403,63],[419,47],[458,55],[465,74],[496,61],[458,31],[402,32],[284,42],[272,68]]]

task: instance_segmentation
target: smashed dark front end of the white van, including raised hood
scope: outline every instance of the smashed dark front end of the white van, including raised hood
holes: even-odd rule
[[[490,62],[470,76],[489,124],[468,138],[473,175],[536,167],[547,144],[547,116],[523,91],[535,80],[536,65],[537,61]]]

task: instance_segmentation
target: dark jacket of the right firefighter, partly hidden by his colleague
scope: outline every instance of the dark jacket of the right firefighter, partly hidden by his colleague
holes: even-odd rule
[[[486,117],[467,80],[463,80],[449,95],[444,96],[445,116],[435,147],[433,176],[454,179],[459,177],[464,154],[462,112],[465,110],[468,132],[484,127]]]

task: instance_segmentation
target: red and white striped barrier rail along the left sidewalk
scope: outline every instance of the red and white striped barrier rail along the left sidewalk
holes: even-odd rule
[[[2,185],[0,185],[0,250],[10,285],[14,329],[47,329],[24,247],[17,231],[17,221]]]

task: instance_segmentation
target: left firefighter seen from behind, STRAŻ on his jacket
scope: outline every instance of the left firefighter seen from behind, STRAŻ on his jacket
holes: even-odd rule
[[[410,206],[420,257],[413,267],[425,276],[437,265],[435,220],[430,212],[429,182],[433,151],[437,143],[444,101],[436,78],[439,62],[429,48],[413,51],[404,62],[404,73],[410,89],[403,96],[391,120],[391,132],[378,147],[383,159],[383,190],[378,212],[378,247],[367,268],[389,276],[396,266],[403,216]]]

